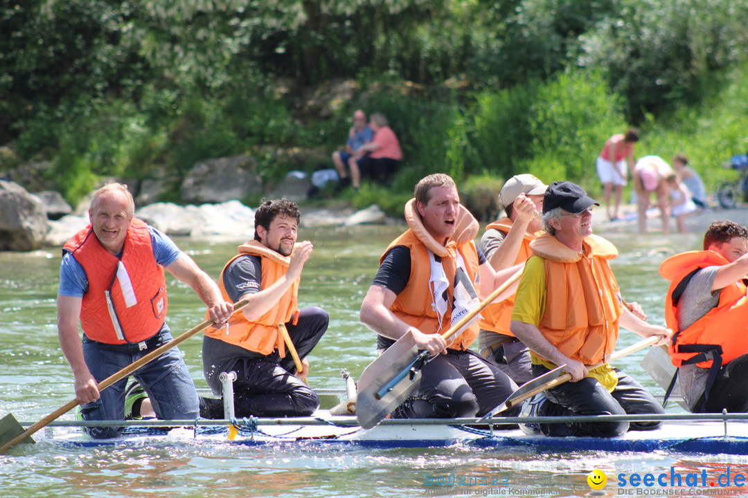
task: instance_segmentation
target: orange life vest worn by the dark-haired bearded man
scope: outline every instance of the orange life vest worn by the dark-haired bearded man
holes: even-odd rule
[[[239,254],[231,260],[221,270],[221,276],[218,277],[218,288],[221,289],[221,295],[225,300],[230,301],[226,287],[224,286],[224,273],[229,265],[243,255],[260,256],[262,275],[260,276],[260,289],[266,289],[275,284],[279,278],[288,273],[291,258],[283,256],[272,249],[267,248],[257,240],[250,240],[248,243],[239,246]],[[292,285],[280,296],[266,314],[255,321],[246,319],[244,313],[235,313],[228,323],[228,332],[224,328],[208,329],[205,334],[214,339],[223,340],[226,343],[240,346],[250,351],[258,352],[261,355],[269,355],[275,349],[283,358],[286,355],[286,344],[283,343],[283,337],[278,333],[278,324],[287,323],[295,314],[298,302],[298,284],[301,278],[298,278]],[[206,315],[207,317],[207,315]]]

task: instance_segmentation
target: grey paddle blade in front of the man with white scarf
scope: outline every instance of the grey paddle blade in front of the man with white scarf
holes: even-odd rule
[[[413,334],[408,332],[364,369],[356,397],[356,417],[361,427],[371,429],[380,423],[420,385],[421,373],[417,370],[413,379],[405,376],[381,399],[377,398],[378,391],[408,369],[417,356]]]

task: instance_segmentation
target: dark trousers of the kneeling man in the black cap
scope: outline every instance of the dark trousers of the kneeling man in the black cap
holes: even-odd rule
[[[538,414],[543,417],[568,415],[623,415],[663,414],[665,411],[656,399],[639,382],[614,368],[618,385],[609,393],[597,379],[585,377],[579,382],[565,382],[545,391],[548,401],[541,405]],[[548,372],[542,365],[533,365],[535,376]],[[540,430],[547,436],[592,436],[612,438],[628,430],[650,431],[660,422],[574,422],[542,423]]]

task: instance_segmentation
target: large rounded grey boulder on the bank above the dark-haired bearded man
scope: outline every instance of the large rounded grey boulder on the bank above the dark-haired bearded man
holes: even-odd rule
[[[192,166],[182,182],[182,200],[203,204],[263,193],[257,161],[248,155],[209,159]]]

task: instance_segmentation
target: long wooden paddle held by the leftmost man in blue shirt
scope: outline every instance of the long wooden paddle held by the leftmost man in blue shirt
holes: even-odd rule
[[[236,311],[239,311],[242,308],[244,308],[247,305],[247,303],[248,303],[247,299],[241,299],[237,301],[236,304],[234,305],[234,312],[236,313]],[[192,329],[189,329],[187,332],[180,335],[179,337],[176,337],[170,340],[168,343],[165,343],[164,345],[159,346],[159,348],[154,349],[152,352],[148,353],[143,358],[140,358],[138,361],[134,361],[132,364],[129,364],[127,367],[124,367],[119,372],[114,373],[111,376],[108,376],[102,382],[99,382],[99,391],[106,389],[107,387],[111,386],[115,382],[120,381],[121,379],[124,379],[125,377],[129,376],[131,373],[135,372],[135,370],[138,370],[138,368],[144,366],[145,364],[150,363],[156,358],[159,358],[159,356],[163,355],[169,349],[174,349],[175,347],[179,346],[184,341],[188,340],[193,335],[203,332],[203,330],[207,329],[209,326],[212,326],[212,325],[214,325],[213,320],[210,320],[210,319],[205,320],[203,323],[200,323],[200,325],[195,326]],[[57,420],[59,417],[66,414],[68,411],[72,410],[78,405],[79,405],[78,400],[73,399],[70,402],[67,402],[67,404],[53,411],[51,414],[44,417],[39,422],[34,423],[33,425],[29,426],[28,429],[21,432],[19,435],[16,435],[16,437],[10,439],[10,441],[4,442],[3,445],[0,446],[0,455],[4,455],[8,449],[22,442],[23,440],[25,440],[25,438],[28,438],[30,435],[34,434],[34,432],[37,432],[39,429],[42,429],[43,427],[47,426],[53,420]],[[12,414],[8,414],[8,416],[13,417]],[[6,416],[5,418],[7,418],[8,416]],[[15,420],[15,417],[13,417],[13,420]],[[22,427],[17,421],[16,421],[16,424],[18,424],[19,427]]]

